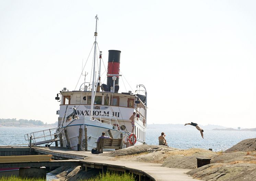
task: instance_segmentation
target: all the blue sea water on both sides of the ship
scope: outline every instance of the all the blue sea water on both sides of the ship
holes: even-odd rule
[[[20,144],[27,146],[28,141],[25,141],[25,134],[46,129],[49,128],[0,127],[0,146]],[[212,148],[216,152],[224,151],[247,138],[256,137],[255,131],[204,130],[203,139],[197,129],[147,129],[146,143],[158,145],[158,137],[161,135],[161,132],[166,134],[166,141],[171,147],[180,149]]]

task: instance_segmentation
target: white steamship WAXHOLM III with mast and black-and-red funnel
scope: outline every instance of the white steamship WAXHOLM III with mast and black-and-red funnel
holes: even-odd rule
[[[94,41],[94,62],[95,72],[96,44],[97,44],[97,16]],[[57,111],[58,129],[57,135],[62,133],[63,147],[74,150],[84,150],[84,142],[87,140],[88,150],[96,147],[97,139],[102,132],[109,131],[114,138],[130,138],[132,145],[145,143],[145,131],[147,125],[147,92],[143,85],[137,85],[133,94],[119,93],[119,50],[108,51],[107,83],[101,84],[101,68],[98,75],[93,74],[92,83],[84,82],[79,90],[69,91],[66,88],[57,94],[56,99],[60,102]],[[102,61],[102,52],[99,55]],[[100,63],[101,65],[101,63]],[[97,81],[94,81],[97,80]],[[132,124],[129,118],[136,112],[135,129],[132,131]],[[87,128],[87,137],[84,131]],[[80,131],[80,132],[79,132]],[[82,131],[82,132],[81,132]],[[79,136],[80,134],[80,136]],[[82,137],[81,137],[82,136]],[[78,148],[78,146],[80,146]]]

